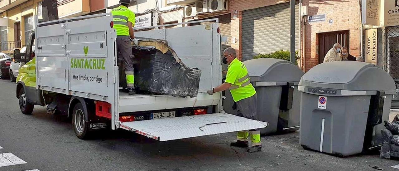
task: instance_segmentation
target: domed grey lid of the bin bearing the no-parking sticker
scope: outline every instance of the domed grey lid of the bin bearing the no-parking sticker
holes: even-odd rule
[[[299,85],[354,91],[396,89],[395,82],[384,70],[356,61],[319,64],[304,74]]]

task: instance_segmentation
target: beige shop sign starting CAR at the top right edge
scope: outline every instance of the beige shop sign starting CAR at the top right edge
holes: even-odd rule
[[[384,26],[399,25],[399,1],[385,0]]]

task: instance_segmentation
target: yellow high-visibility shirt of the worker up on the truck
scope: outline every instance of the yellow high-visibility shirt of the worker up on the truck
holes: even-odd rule
[[[112,9],[111,13],[117,36],[130,36],[127,22],[132,22],[134,27],[136,24],[136,15],[123,5]]]

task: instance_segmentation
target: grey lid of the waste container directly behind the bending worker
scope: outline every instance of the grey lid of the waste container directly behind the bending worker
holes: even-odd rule
[[[299,82],[303,76],[294,64],[286,60],[259,58],[243,62],[253,82]]]

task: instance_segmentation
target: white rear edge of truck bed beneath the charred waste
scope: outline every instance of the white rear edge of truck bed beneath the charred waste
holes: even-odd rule
[[[202,89],[199,90],[197,97],[129,95],[127,92],[119,90],[119,113],[217,105],[219,99],[220,93],[208,95]]]

